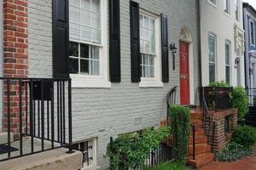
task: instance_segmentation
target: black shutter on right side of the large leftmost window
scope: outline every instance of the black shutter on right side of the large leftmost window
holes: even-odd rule
[[[109,0],[110,82],[121,82],[119,0]]]

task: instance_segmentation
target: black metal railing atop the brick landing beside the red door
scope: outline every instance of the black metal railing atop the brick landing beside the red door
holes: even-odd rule
[[[232,108],[233,88],[201,87],[199,88],[201,106],[207,105],[209,111],[220,111]],[[203,95],[205,96],[205,104]]]

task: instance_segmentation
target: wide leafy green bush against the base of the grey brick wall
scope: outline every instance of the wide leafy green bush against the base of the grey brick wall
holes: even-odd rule
[[[170,129],[161,127],[147,128],[142,133],[119,135],[108,144],[107,155],[110,158],[111,170],[126,170],[141,167],[145,159],[170,134]]]

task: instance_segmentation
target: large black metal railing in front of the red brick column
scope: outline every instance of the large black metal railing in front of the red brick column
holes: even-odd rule
[[[64,146],[73,152],[71,79],[0,77],[0,82],[3,131],[8,133],[0,161]]]

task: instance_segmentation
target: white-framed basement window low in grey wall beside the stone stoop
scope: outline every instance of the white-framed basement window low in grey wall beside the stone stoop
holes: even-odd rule
[[[79,150],[83,154],[82,170],[96,169],[96,139],[73,144],[73,150]]]

